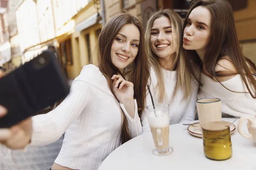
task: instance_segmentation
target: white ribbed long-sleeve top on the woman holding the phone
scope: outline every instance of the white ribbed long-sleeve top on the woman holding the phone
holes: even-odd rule
[[[128,119],[131,137],[142,133],[135,103],[132,119],[94,65],[86,65],[73,81],[70,94],[53,111],[32,117],[31,145],[57,141],[66,131],[56,164],[71,169],[97,170],[102,161],[121,145],[121,108]]]

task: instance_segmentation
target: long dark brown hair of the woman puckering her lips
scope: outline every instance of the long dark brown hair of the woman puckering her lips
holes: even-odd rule
[[[189,14],[198,6],[209,9],[212,16],[210,39],[203,59],[205,71],[212,77],[215,77],[219,83],[221,82],[218,80],[218,77],[240,74],[250,95],[255,99],[256,94],[253,94],[252,91],[256,91],[256,80],[252,73],[256,72],[256,67],[250,59],[244,57],[242,54],[237,38],[233,9],[230,3],[227,0],[193,0],[189,6],[183,31],[186,27]],[[184,49],[184,52],[187,58],[192,58],[194,62],[199,65],[201,64],[202,61],[195,50]],[[236,71],[215,71],[215,67],[218,65],[220,59],[229,60],[236,68]],[[223,84],[221,83],[221,85]],[[224,88],[226,87],[224,86]],[[228,88],[226,89],[230,90]]]

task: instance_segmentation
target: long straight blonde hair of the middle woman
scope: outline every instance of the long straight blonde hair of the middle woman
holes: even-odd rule
[[[160,17],[167,17],[170,22],[172,23],[172,36],[173,36],[173,42],[175,42],[176,49],[175,49],[175,57],[173,59],[173,68],[172,70],[176,70],[177,72],[177,83],[175,86],[175,91],[173,93],[172,99],[174,99],[175,94],[177,93],[177,89],[181,88],[183,91],[183,100],[189,99],[192,94],[192,85],[191,85],[191,73],[189,71],[189,66],[191,66],[191,63],[187,61],[184,58],[184,55],[180,54],[180,47],[182,47],[182,41],[181,36],[182,28],[183,28],[183,20],[182,18],[171,9],[160,9],[160,11],[155,12],[152,14],[152,16],[149,18],[147,22],[147,26],[145,29],[145,48],[149,60],[150,66],[154,69],[156,75],[157,75],[157,86],[154,90],[158,89],[159,91],[159,98],[158,102],[163,102],[163,100],[166,99],[166,91],[165,91],[165,85],[163,80],[163,73],[162,73],[162,66],[160,62],[158,61],[158,56],[154,54],[154,52],[151,49],[150,45],[150,32],[151,28],[153,26],[154,21],[157,18]]]

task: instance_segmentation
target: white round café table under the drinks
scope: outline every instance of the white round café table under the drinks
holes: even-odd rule
[[[234,118],[222,120],[233,122]],[[170,125],[170,146],[174,149],[170,155],[152,154],[154,142],[148,132],[114,150],[98,170],[256,170],[256,144],[237,130],[231,135],[231,158],[213,161],[204,156],[203,139],[192,136],[187,127],[181,123]],[[243,130],[248,132],[246,123]]]

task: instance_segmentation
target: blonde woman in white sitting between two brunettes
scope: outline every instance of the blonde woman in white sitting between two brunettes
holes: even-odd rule
[[[151,93],[155,103],[170,105],[170,125],[195,119],[198,82],[191,62],[180,54],[183,20],[174,11],[155,12],[145,29],[145,47],[151,66]],[[146,105],[151,105],[148,95]],[[149,131],[143,114],[143,132]]]

